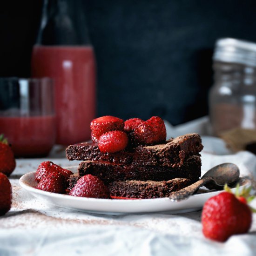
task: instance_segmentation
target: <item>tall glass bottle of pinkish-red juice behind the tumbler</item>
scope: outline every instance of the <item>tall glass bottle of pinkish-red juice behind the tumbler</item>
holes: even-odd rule
[[[32,52],[34,77],[55,84],[56,143],[90,139],[95,117],[95,58],[80,0],[45,0],[37,43]]]

